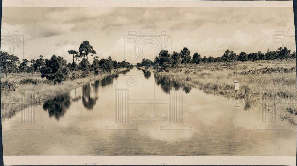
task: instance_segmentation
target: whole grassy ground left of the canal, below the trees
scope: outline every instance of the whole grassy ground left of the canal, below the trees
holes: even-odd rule
[[[40,105],[49,98],[67,92],[91,80],[99,80],[126,68],[119,68],[111,73],[90,75],[85,78],[70,79],[54,85],[39,74],[17,73],[1,78],[1,117],[11,118],[19,110],[29,105]],[[24,98],[24,96],[26,96]]]

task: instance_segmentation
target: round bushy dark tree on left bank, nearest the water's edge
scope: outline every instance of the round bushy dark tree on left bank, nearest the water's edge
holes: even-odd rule
[[[40,72],[41,78],[45,77],[56,85],[68,78],[69,69],[66,66],[66,60],[61,56],[53,55],[50,60],[45,59],[45,66],[41,67]]]

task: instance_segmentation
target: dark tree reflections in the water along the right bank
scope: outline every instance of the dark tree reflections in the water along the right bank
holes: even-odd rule
[[[192,90],[189,81],[191,80],[188,76],[163,76],[163,75],[154,75],[157,85],[161,86],[161,89],[169,94],[170,89],[174,88],[176,90],[183,89],[186,93],[190,93]]]

